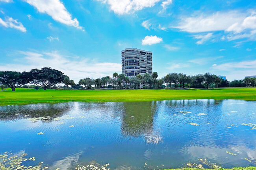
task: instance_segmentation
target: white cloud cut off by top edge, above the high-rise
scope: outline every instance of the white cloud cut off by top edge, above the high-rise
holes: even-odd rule
[[[130,14],[146,7],[153,7],[161,0],[96,0],[107,3],[110,9],[118,15]]]

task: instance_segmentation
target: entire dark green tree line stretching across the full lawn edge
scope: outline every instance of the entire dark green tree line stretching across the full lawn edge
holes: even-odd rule
[[[243,80],[234,80],[229,82],[223,80],[217,75],[211,73],[186,75],[184,73],[169,73],[161,79],[158,79],[158,73],[153,72],[152,75],[145,73],[136,77],[127,77],[124,74],[113,73],[113,75],[102,77],[101,79],[91,79],[89,77],[80,79],[76,84],[74,80],[70,80],[59,70],[52,68],[32,69],[29,72],[18,71],[0,71],[0,88],[47,88],[52,89],[80,89],[89,90],[95,88],[115,88],[115,89],[137,89],[137,88],[218,88],[218,87],[255,87],[255,78],[245,78]],[[26,84],[33,84],[28,86]],[[57,86],[57,84],[65,84],[65,86]],[[166,84],[166,86],[164,85]],[[70,86],[70,88],[69,88]]]

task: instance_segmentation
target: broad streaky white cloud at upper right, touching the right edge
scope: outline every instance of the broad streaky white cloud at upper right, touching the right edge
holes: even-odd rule
[[[256,40],[255,11],[219,11],[211,15],[182,16],[178,26],[173,27],[189,33],[224,31],[221,40],[248,38]],[[209,35],[210,36],[210,35]],[[200,44],[203,41],[199,41]]]

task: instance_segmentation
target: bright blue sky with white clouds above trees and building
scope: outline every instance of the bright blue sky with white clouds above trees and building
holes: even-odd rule
[[[121,73],[121,50],[153,71],[256,75],[254,0],[0,0],[0,70],[52,67],[78,82]]]

